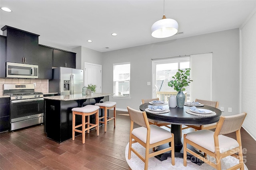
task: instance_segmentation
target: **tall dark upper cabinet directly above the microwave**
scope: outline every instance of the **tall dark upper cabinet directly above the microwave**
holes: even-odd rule
[[[6,62],[38,64],[39,35],[5,25],[1,28],[6,36]]]

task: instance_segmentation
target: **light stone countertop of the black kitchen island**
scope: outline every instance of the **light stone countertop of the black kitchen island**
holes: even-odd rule
[[[114,93],[93,93],[92,95],[82,95],[82,94],[71,94],[71,95],[64,95],[64,96],[48,96],[44,97],[44,99],[50,99],[50,100],[82,100],[82,99],[90,99],[90,98],[99,98],[104,96],[110,96]]]

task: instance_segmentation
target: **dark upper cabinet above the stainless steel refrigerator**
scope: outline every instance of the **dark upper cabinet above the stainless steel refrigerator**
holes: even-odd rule
[[[53,66],[76,68],[76,53],[53,49]]]

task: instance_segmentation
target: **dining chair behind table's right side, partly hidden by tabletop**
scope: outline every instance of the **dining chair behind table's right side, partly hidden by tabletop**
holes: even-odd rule
[[[196,99],[195,102],[199,102],[200,104],[204,104],[207,106],[212,106],[212,107],[219,107],[219,102],[218,101],[210,101],[210,100],[200,100],[200,99]],[[186,125],[186,127],[182,127],[183,129],[187,129],[187,128],[194,128],[196,130],[202,130],[202,129],[214,129],[216,128],[217,123],[211,123],[208,125]]]

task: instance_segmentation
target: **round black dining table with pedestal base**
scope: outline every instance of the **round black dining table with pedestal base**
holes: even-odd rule
[[[174,145],[175,145],[175,157],[183,157],[183,144],[182,144],[182,133],[181,133],[181,125],[207,125],[211,123],[216,123],[220,119],[221,111],[215,107],[211,106],[200,106],[197,108],[207,109],[210,111],[215,112],[216,115],[194,115],[190,114],[190,106],[184,107],[175,107],[171,108],[168,104],[162,105],[164,109],[168,111],[167,113],[158,113],[157,111],[150,111],[148,110],[148,105],[154,106],[149,103],[145,103],[140,105],[140,110],[145,111],[147,114],[148,119],[153,119],[157,121],[166,121],[170,122],[171,124],[171,132],[174,134]],[[190,112],[190,113],[188,113]],[[200,140],[200,139],[199,139]],[[167,156],[171,156],[169,154],[162,154],[156,156],[159,160],[166,160]],[[192,160],[191,161],[196,164],[202,164],[200,160]]]

